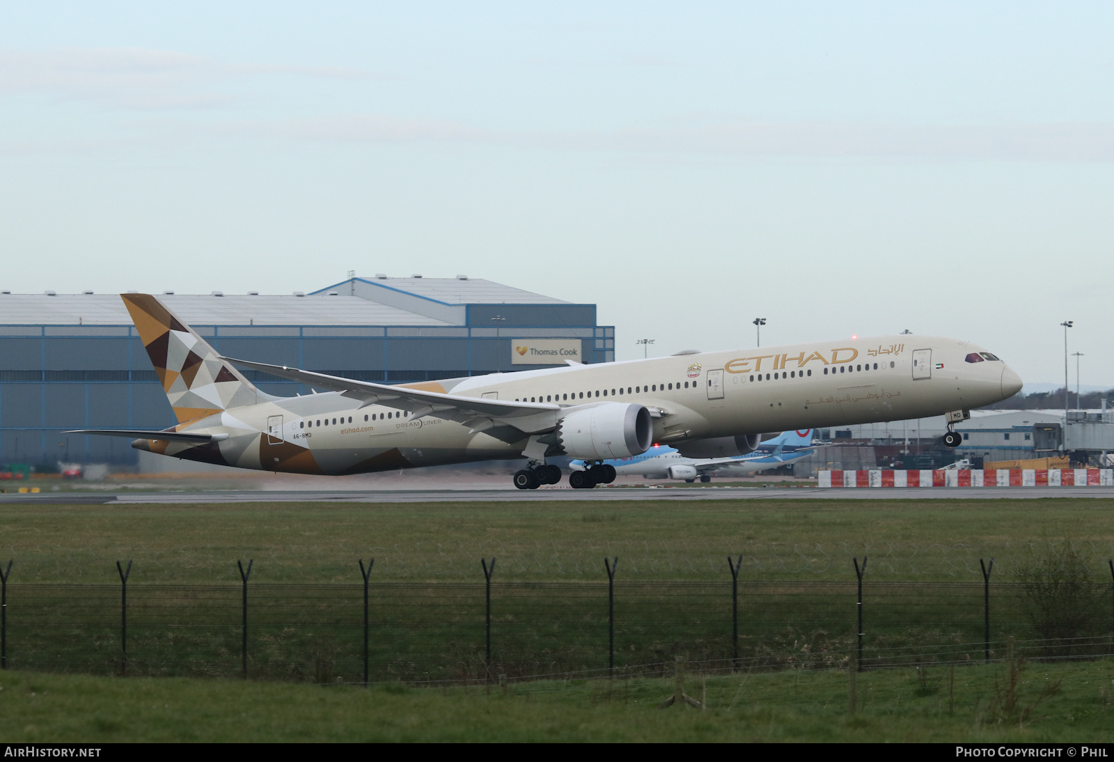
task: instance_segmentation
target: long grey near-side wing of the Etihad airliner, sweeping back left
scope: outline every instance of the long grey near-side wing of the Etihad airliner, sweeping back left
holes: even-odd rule
[[[339,391],[343,397],[360,400],[361,408],[382,404],[407,410],[411,420],[437,416],[469,426],[472,431],[486,431],[495,426],[511,426],[526,433],[549,431],[557,426],[563,408],[549,402],[510,402],[480,397],[462,397],[441,392],[391,387],[384,383],[355,381],[339,375],[314,373],[286,365],[268,365],[250,360],[221,358],[244,368],[260,370],[292,381],[301,381],[319,389]]]

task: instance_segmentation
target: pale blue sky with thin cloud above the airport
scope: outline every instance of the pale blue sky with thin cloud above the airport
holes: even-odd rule
[[[1114,4],[0,2],[0,286],[467,273],[1114,385]],[[1105,340],[1105,341],[1104,341]],[[1072,361],[1075,385],[1075,359]]]

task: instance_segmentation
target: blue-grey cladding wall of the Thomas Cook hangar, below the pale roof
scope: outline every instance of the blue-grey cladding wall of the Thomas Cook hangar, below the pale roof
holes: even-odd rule
[[[565,305],[531,309],[518,304],[499,311],[506,316],[499,329],[490,328],[487,306],[469,309],[468,324],[460,326],[192,328],[227,356],[387,383],[546,367],[512,367],[515,339],[575,338],[586,360],[614,360],[615,329],[595,324],[595,305],[566,310]],[[553,325],[555,312],[579,324]],[[309,393],[296,382],[255,371],[245,375],[272,394]],[[133,466],[137,453],[129,440],[63,431],[162,429],[174,423],[134,326],[0,324],[0,463]]]

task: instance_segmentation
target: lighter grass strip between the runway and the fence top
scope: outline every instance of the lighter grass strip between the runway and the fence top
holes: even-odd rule
[[[238,583],[253,558],[260,583],[356,582],[358,558],[375,579],[482,580],[480,557],[497,557],[500,580],[602,580],[604,556],[619,579],[720,580],[726,556],[743,556],[742,579],[854,578],[870,557],[876,580],[997,579],[1029,548],[1072,543],[1107,579],[1114,500],[707,500],[620,504],[468,502],[407,505],[3,505],[0,560],[13,582],[131,579]]]

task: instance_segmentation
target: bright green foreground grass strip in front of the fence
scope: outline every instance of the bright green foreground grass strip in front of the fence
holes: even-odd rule
[[[707,709],[655,709],[671,678],[370,688],[0,674],[8,743],[119,741],[1114,741],[1114,664],[927,675],[846,671],[690,676]]]

